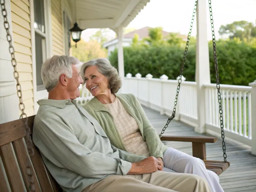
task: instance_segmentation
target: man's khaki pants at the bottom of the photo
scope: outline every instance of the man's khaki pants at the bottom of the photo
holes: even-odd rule
[[[141,175],[111,175],[83,192],[211,192],[206,180],[187,173],[156,171]]]

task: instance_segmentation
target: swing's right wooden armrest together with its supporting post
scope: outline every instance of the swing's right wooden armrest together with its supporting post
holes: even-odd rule
[[[192,142],[193,157],[206,160],[206,146],[205,143],[215,143],[217,137],[191,137],[191,136],[162,136],[162,141],[182,141]]]

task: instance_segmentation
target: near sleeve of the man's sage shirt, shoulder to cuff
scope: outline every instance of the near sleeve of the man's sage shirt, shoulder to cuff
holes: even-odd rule
[[[85,128],[86,129],[86,128]],[[35,125],[33,141],[39,150],[63,168],[89,178],[102,178],[108,174],[126,175],[132,164],[112,158],[82,145],[74,132],[58,118],[45,118]],[[117,153],[117,152],[115,152]]]

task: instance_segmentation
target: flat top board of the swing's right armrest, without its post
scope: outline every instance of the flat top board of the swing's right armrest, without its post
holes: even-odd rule
[[[183,141],[195,143],[215,143],[217,137],[196,137],[196,136],[162,136],[162,141]]]

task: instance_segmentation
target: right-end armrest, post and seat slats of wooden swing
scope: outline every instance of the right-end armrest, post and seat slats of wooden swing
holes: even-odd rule
[[[205,143],[215,143],[217,141],[217,137],[162,136],[161,140],[192,142],[193,157],[202,159],[204,161],[206,169],[215,172],[217,175],[220,175],[230,166],[229,162],[206,160]]]

